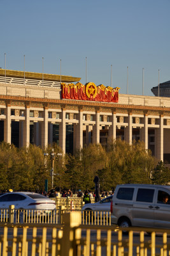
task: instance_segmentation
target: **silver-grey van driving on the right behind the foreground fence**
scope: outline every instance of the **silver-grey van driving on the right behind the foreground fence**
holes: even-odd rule
[[[170,186],[118,185],[111,202],[111,223],[170,228]]]

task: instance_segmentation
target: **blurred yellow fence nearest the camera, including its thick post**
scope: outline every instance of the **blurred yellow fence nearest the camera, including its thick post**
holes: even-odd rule
[[[81,212],[63,215],[63,225],[0,224],[0,256],[167,256],[170,230],[81,225]],[[146,232],[150,232],[148,236]],[[11,253],[12,252],[12,253]]]

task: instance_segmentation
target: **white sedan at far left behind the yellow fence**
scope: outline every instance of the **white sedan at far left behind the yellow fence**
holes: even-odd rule
[[[0,196],[0,209],[8,209],[15,205],[15,209],[55,210],[55,202],[46,196],[32,192],[13,192]]]

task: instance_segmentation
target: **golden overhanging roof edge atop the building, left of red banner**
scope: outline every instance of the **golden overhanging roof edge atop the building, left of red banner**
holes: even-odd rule
[[[18,77],[24,78],[24,71],[18,70],[4,70],[0,68],[0,76],[6,77]],[[60,82],[60,75],[53,75],[53,74],[43,74],[43,73],[36,73],[36,72],[26,72],[25,71],[25,79],[44,79],[48,81],[58,81]],[[73,77],[73,76],[61,76],[61,81],[66,83],[78,82],[80,81],[81,77]]]

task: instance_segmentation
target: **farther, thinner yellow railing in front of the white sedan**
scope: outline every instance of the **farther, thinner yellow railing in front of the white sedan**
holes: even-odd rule
[[[62,224],[63,215],[71,211],[60,206],[59,210],[35,210],[15,209],[10,205],[9,209],[0,209],[0,223],[53,223]],[[76,211],[80,212],[80,211]],[[111,225],[111,214],[107,211],[82,211],[81,224],[83,225]]]

